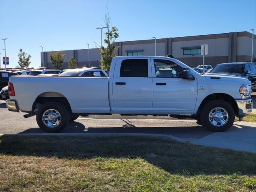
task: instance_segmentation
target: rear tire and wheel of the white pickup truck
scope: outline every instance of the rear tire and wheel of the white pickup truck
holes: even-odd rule
[[[39,108],[36,122],[47,133],[60,132],[69,122],[68,110],[61,103],[48,102]]]

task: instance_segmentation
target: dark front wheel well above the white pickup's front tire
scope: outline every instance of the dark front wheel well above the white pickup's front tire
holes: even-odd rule
[[[197,110],[197,116],[200,115],[200,112],[201,112],[203,106],[212,100],[222,100],[222,101],[228,102],[233,107],[235,114],[236,115],[238,114],[238,106],[236,104],[235,99],[232,96],[230,96],[228,94],[224,94],[224,93],[214,93],[214,94],[210,94],[206,98],[204,98],[204,100],[202,101],[202,103],[200,104],[200,106]]]

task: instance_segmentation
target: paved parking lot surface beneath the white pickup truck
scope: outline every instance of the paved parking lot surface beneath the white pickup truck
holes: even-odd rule
[[[254,110],[256,109],[256,96]],[[0,134],[45,134],[36,123],[36,116],[24,118],[23,113],[9,112],[0,101]],[[10,116],[12,118],[10,118]],[[134,134],[173,138],[206,146],[256,152],[256,124],[235,122],[226,132],[213,133],[196,124],[196,120],[162,117],[94,115],[70,122],[60,134]],[[141,119],[142,118],[142,119]],[[242,135],[242,137],[241,137]],[[250,142],[251,141],[251,142]]]

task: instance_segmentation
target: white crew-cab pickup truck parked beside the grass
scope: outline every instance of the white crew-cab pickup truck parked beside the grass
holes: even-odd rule
[[[46,132],[89,114],[170,115],[195,118],[225,131],[252,111],[251,82],[242,77],[200,74],[170,57],[114,57],[109,77],[11,76],[10,111],[36,115]]]

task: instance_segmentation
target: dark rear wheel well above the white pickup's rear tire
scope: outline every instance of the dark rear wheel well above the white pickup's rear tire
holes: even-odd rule
[[[72,109],[70,107],[70,104],[69,104],[67,98],[58,92],[45,92],[45,93],[40,94],[36,98],[35,102],[33,103],[32,111],[34,112],[35,110],[38,110],[38,108],[42,104],[47,103],[47,102],[61,103],[62,105],[66,106],[66,108],[68,109],[68,112],[72,113]]]

